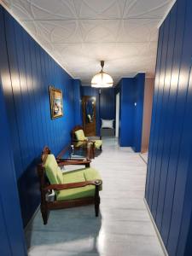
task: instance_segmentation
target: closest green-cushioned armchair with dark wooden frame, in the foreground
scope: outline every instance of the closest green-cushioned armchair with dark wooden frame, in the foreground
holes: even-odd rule
[[[90,160],[56,160],[45,147],[38,165],[38,177],[41,192],[41,213],[44,224],[47,224],[49,210],[67,207],[79,207],[95,204],[96,217],[99,213],[102,178],[90,167]],[[60,166],[83,165],[85,168],[61,172]],[[49,201],[48,195],[55,192],[54,200]]]

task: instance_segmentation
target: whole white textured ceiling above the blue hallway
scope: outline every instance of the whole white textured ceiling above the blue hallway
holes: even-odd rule
[[[117,83],[154,74],[158,26],[172,0],[4,0],[9,12],[73,78],[104,70]]]

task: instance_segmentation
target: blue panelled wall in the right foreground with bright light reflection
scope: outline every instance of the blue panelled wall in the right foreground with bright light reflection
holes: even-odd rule
[[[145,198],[169,255],[192,255],[192,2],[160,26]]]

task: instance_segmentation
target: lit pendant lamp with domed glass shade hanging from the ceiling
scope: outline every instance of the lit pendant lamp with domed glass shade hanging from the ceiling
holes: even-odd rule
[[[104,67],[104,61],[101,61],[101,67]],[[100,71],[100,73],[96,73],[96,75],[91,80],[91,86],[96,88],[107,88],[113,86],[113,79],[108,73]]]

